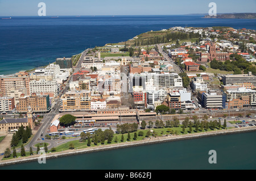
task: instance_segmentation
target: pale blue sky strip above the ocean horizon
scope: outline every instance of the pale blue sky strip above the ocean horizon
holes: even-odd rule
[[[46,15],[181,15],[208,13],[210,2],[217,13],[256,12],[256,0],[0,0],[0,16],[37,16],[39,2]]]

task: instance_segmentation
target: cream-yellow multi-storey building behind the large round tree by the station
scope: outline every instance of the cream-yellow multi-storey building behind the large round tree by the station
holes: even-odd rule
[[[90,111],[90,91],[68,91],[61,96],[60,111]]]

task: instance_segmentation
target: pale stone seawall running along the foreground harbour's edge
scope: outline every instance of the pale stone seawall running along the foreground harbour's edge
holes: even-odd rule
[[[133,141],[133,142],[122,142],[118,144],[112,145],[102,145],[97,146],[96,148],[85,148],[81,150],[65,150],[61,153],[47,153],[46,159],[51,158],[59,158],[65,157],[70,155],[76,154],[85,154],[85,153],[93,153],[97,151],[105,151],[105,150],[113,150],[113,149],[121,149],[121,148],[129,148],[131,146],[142,146],[142,145],[150,145],[150,144],[159,144],[163,142],[170,142],[170,141],[179,141],[179,140],[188,140],[188,139],[195,139],[195,138],[202,138],[202,137],[209,137],[209,136],[219,136],[225,134],[237,134],[237,133],[244,133],[244,132],[253,132],[256,131],[256,127],[249,127],[249,128],[234,128],[228,130],[221,130],[221,131],[213,131],[213,132],[205,132],[205,133],[193,133],[193,134],[183,134],[181,136],[166,136],[166,137],[156,137],[150,138],[147,140],[141,141]],[[0,161],[0,167],[13,165],[15,163],[25,163],[25,162],[32,162],[38,161],[40,159],[40,155],[32,155],[30,158],[15,158],[14,160],[9,161]]]

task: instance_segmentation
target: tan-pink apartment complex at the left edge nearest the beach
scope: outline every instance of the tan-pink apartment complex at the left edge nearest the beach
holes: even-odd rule
[[[0,88],[3,95],[10,96],[11,89],[25,87],[27,89],[27,94],[30,94],[30,77],[26,71],[19,71],[14,76],[1,77],[0,78]]]

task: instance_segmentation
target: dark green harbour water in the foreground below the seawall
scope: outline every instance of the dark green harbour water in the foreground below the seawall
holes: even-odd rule
[[[246,132],[171,141],[46,159],[46,163],[19,163],[0,170],[255,170],[255,138],[256,132]],[[210,150],[216,151],[216,163],[209,163]]]

